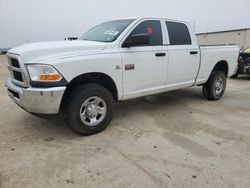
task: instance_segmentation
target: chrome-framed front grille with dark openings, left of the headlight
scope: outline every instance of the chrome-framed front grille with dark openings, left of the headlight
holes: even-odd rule
[[[20,60],[16,57],[8,57],[8,61],[8,68],[12,77],[12,82],[22,87],[28,87],[24,73],[24,66],[22,66]]]

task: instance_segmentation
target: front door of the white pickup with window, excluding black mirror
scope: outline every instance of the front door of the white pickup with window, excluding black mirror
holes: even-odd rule
[[[121,47],[124,99],[154,94],[166,85],[168,54],[161,21],[142,21],[126,40],[145,33],[150,37],[148,45]]]

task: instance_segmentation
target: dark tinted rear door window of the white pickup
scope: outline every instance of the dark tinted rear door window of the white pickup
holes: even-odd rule
[[[185,24],[166,22],[170,45],[192,44],[189,30]]]

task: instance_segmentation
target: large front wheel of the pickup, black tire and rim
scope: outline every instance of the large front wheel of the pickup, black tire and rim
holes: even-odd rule
[[[64,118],[73,131],[89,136],[103,131],[111,122],[113,112],[111,93],[101,85],[85,84],[70,95]]]

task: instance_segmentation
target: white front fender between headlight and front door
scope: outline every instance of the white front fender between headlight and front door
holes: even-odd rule
[[[117,69],[117,66],[122,67],[121,55],[119,53],[58,59],[53,62],[53,66],[68,82],[71,82],[74,78],[82,74],[106,74],[112,78],[116,84],[118,99],[122,99],[122,69]]]

